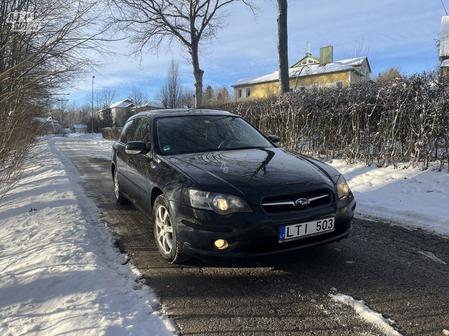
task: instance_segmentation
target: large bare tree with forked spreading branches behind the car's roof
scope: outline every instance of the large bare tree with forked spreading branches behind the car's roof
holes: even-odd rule
[[[195,77],[195,103],[202,106],[202,76],[199,56],[201,43],[212,43],[227,26],[225,6],[234,2],[247,5],[255,14],[252,0],[110,0],[115,31],[126,31],[133,46],[131,54],[141,56],[144,49],[158,51],[163,40],[177,40],[189,53]]]

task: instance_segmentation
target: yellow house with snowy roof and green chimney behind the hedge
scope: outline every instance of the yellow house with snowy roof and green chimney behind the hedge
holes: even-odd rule
[[[306,53],[289,68],[290,92],[312,86],[347,86],[370,78],[371,68],[366,56],[348,60],[332,60],[332,46],[320,49],[320,58]],[[279,73],[239,79],[232,87],[234,101],[264,98],[279,93]]]

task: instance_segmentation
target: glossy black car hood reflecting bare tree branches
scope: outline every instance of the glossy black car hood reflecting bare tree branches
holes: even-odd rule
[[[330,175],[313,160],[282,148],[165,156],[203,189],[234,194],[250,204],[264,196],[329,188]]]

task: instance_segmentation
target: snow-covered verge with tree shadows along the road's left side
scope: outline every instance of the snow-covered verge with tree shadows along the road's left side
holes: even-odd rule
[[[0,334],[177,334],[57,153],[60,139],[0,207]]]

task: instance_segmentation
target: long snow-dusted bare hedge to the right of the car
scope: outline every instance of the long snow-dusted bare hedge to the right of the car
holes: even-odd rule
[[[416,73],[348,87],[316,87],[216,109],[236,113],[292,151],[387,167],[448,162],[449,83]]]

